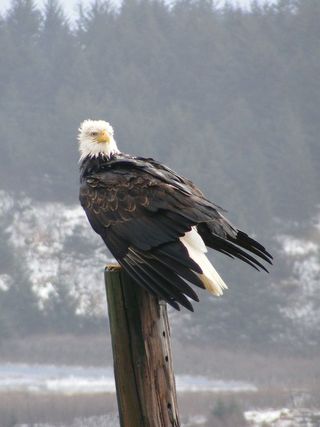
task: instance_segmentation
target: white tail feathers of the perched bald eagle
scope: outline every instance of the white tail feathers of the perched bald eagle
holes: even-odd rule
[[[198,273],[198,276],[205,288],[214,295],[222,295],[223,289],[228,289],[228,286],[208,260],[206,245],[196,228],[192,227],[191,231],[180,237],[180,241],[187,249],[190,258],[201,268],[202,274]]]

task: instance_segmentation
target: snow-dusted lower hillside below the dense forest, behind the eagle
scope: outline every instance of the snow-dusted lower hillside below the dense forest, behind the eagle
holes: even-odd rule
[[[276,265],[269,276],[237,261],[216,259],[230,290],[221,299],[199,291],[201,302],[192,315],[172,310],[175,333],[186,340],[209,334],[213,342],[232,338],[284,346],[299,339],[301,346],[319,345],[319,223],[320,217],[303,231],[292,226],[291,234],[287,229],[273,236]],[[2,191],[0,224],[7,241],[0,263],[0,306],[8,328],[2,328],[2,335],[14,329],[31,333],[35,317],[42,321],[33,332],[100,331],[106,310],[103,268],[111,257],[82,208]]]

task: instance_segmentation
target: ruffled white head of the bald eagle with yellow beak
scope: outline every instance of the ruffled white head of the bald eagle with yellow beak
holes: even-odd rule
[[[119,153],[116,141],[113,138],[113,128],[104,120],[85,120],[79,127],[80,160],[85,157],[110,157]]]

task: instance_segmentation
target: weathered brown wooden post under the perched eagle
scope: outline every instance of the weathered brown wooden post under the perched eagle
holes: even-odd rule
[[[121,427],[179,427],[166,304],[119,267],[105,282]]]

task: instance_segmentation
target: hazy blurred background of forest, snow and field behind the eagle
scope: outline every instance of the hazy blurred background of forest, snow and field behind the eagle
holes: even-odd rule
[[[191,178],[275,258],[267,275],[211,253],[229,291],[170,311],[183,425],[319,426],[320,2],[0,14],[1,427],[118,425],[111,256],[78,203],[86,118]]]

